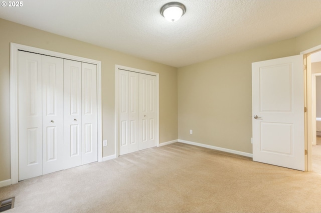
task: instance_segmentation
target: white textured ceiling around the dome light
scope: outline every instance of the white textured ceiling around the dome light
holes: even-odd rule
[[[180,0],[176,22],[159,13],[170,1],[25,0],[0,18],[176,67],[321,25],[321,0]]]

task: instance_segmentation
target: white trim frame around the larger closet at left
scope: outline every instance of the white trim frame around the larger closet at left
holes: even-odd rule
[[[101,116],[101,61],[75,55],[36,48],[18,43],[10,43],[10,152],[11,184],[18,183],[18,50],[29,51],[70,60],[77,60],[97,65],[97,133],[98,162],[102,161],[102,116]]]

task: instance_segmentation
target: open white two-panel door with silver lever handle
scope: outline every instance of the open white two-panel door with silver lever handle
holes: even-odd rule
[[[304,170],[303,55],[252,63],[253,160]]]

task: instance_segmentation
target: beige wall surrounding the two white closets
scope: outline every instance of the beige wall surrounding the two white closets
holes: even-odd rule
[[[0,181],[10,179],[10,42],[102,62],[103,156],[115,154],[115,64],[159,73],[159,142],[178,138],[177,68],[0,19]],[[138,51],[138,50],[137,50]]]

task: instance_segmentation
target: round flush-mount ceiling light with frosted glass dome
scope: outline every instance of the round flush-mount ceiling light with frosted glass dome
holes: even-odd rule
[[[161,14],[166,18],[166,20],[174,22],[180,19],[182,15],[186,12],[186,7],[180,2],[170,2],[164,4],[161,8]]]

